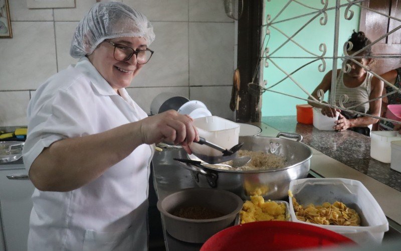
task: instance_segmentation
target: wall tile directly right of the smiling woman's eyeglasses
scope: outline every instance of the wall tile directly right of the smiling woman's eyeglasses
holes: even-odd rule
[[[188,86],[188,25],[186,22],[153,22],[155,41],[150,61],[132,86]]]

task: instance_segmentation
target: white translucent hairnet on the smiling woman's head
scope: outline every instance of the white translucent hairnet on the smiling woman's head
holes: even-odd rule
[[[103,40],[119,37],[143,37],[149,46],[155,36],[152,25],[139,11],[120,2],[97,3],[75,29],[70,55],[81,58]]]

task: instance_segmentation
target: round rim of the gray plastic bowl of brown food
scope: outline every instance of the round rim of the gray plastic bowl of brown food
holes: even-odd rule
[[[181,163],[181,164],[183,164],[183,163]],[[184,165],[185,165],[185,164],[184,164]],[[239,201],[241,200],[241,203],[239,203],[238,207],[237,207],[235,210],[233,210],[231,213],[228,213],[228,214],[226,214],[226,215],[223,215],[223,216],[218,217],[218,218],[213,218],[213,219],[187,219],[187,218],[181,218],[181,217],[172,215],[171,213],[167,212],[167,211],[162,207],[161,204],[162,204],[163,200],[166,199],[167,197],[174,196],[176,193],[185,192],[185,191],[190,191],[190,190],[197,190],[197,191],[211,191],[211,190],[213,190],[213,191],[219,191],[219,192],[221,192],[222,194],[225,194],[225,195],[227,195],[227,196],[232,196],[233,198],[238,199]],[[183,221],[183,222],[206,223],[206,222],[221,221],[221,220],[224,220],[224,219],[233,217],[234,215],[237,215],[237,214],[241,211],[241,209],[242,209],[242,207],[243,207],[243,203],[244,203],[244,201],[243,201],[238,195],[236,195],[236,194],[234,194],[234,193],[232,193],[232,192],[226,191],[226,190],[222,190],[222,189],[213,189],[213,188],[193,187],[193,188],[182,189],[182,190],[179,190],[179,191],[177,191],[177,192],[175,192],[175,193],[172,193],[172,194],[167,195],[167,196],[164,197],[163,199],[158,200],[156,206],[157,206],[157,209],[158,209],[164,216],[166,216],[166,217],[169,217],[169,218],[172,218],[172,219],[175,219],[175,220],[179,220],[179,221]]]

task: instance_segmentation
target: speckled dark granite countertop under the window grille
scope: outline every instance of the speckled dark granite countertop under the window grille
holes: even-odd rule
[[[401,173],[370,157],[370,137],[352,132],[320,131],[297,123],[296,116],[263,117],[262,122],[281,132],[297,133],[311,148],[401,192]]]

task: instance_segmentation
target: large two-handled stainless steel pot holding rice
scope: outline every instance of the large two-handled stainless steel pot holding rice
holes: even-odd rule
[[[295,138],[297,141],[280,139],[280,136]],[[242,171],[220,170],[200,165],[180,165],[191,172],[199,187],[228,190],[248,200],[251,195],[261,195],[265,199],[282,200],[288,196],[291,180],[306,178],[310,170],[311,149],[301,143],[298,134],[279,133],[274,137],[240,137],[243,150],[264,151],[282,155],[287,166],[278,169]]]

